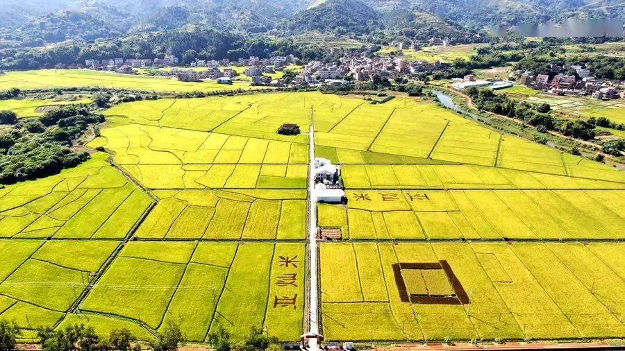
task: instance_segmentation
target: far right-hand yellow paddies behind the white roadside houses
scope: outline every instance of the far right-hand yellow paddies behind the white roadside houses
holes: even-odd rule
[[[498,171],[625,180],[622,172],[605,164],[494,132],[432,103],[397,98],[370,105],[353,100],[349,106],[344,103],[335,108],[325,103],[313,110],[317,154],[347,164],[345,182],[351,178],[356,183],[347,187],[365,187],[358,181],[367,182],[367,176],[382,169],[371,166],[373,172],[367,175],[362,164],[472,164]],[[396,187],[406,185],[401,180],[394,183]]]

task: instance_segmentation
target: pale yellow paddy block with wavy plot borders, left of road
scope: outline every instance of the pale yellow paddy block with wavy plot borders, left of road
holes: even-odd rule
[[[299,142],[138,124],[101,133],[90,145],[115,152],[113,160],[151,189],[306,187],[308,146]]]

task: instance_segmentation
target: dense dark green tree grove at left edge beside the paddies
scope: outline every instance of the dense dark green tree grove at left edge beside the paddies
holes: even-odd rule
[[[87,108],[68,105],[40,119],[24,119],[0,131],[0,183],[50,176],[88,160],[74,152],[73,140],[104,117]]]

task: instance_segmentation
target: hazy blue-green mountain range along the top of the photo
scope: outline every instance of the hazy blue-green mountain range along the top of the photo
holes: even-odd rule
[[[466,28],[567,17],[619,17],[625,0],[0,0],[0,36],[40,46],[197,25],[280,37],[457,36]],[[470,32],[469,32],[470,33]],[[378,37],[380,37],[378,35]]]

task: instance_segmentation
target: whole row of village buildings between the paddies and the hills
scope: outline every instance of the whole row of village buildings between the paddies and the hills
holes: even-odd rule
[[[449,39],[432,38],[428,44],[448,44]],[[410,49],[419,49],[416,42],[410,43]],[[399,43],[400,49],[403,43]],[[224,60],[196,60],[187,68],[178,67],[178,58],[172,55],[165,58],[150,59],[108,59],[108,60],[85,60],[85,67],[96,70],[116,71],[121,74],[135,74],[135,69],[142,67],[172,67],[169,70],[160,70],[162,76],[172,76],[184,82],[199,82],[201,80],[216,80],[217,83],[232,84],[233,80],[240,75],[245,67],[244,75],[251,78],[254,85],[344,85],[354,81],[373,80],[374,76],[389,80],[397,77],[415,78],[421,74],[432,74],[444,71],[449,64],[435,61],[412,61],[409,62],[398,57],[371,56],[367,53],[351,53],[345,55],[338,62],[323,63],[311,61],[306,64],[294,79],[286,82],[281,79],[272,79],[269,74],[283,71],[289,65],[299,64],[300,60],[294,55],[274,56],[272,58],[240,58],[231,62]],[[202,69],[197,69],[202,67]],[[562,74],[560,72],[576,71],[576,76]],[[559,67],[551,65],[553,74],[533,74],[531,71],[512,72],[512,78],[518,78],[521,85],[533,89],[550,92],[552,94],[590,95],[596,99],[619,99],[625,97],[625,93],[610,85],[605,80],[592,76],[590,70],[582,66],[565,65]],[[502,89],[511,87],[513,83],[508,80],[490,81],[476,80],[472,75],[464,78],[456,78],[453,87],[462,91],[468,87],[490,87]]]

